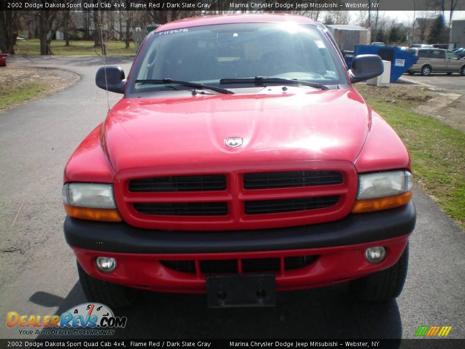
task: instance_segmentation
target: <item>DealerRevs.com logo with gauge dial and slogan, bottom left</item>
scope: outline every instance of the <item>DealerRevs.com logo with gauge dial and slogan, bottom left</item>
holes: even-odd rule
[[[83,303],[62,315],[19,315],[9,312],[6,325],[19,327],[20,335],[113,335],[126,326],[127,317],[115,317],[100,303]]]

